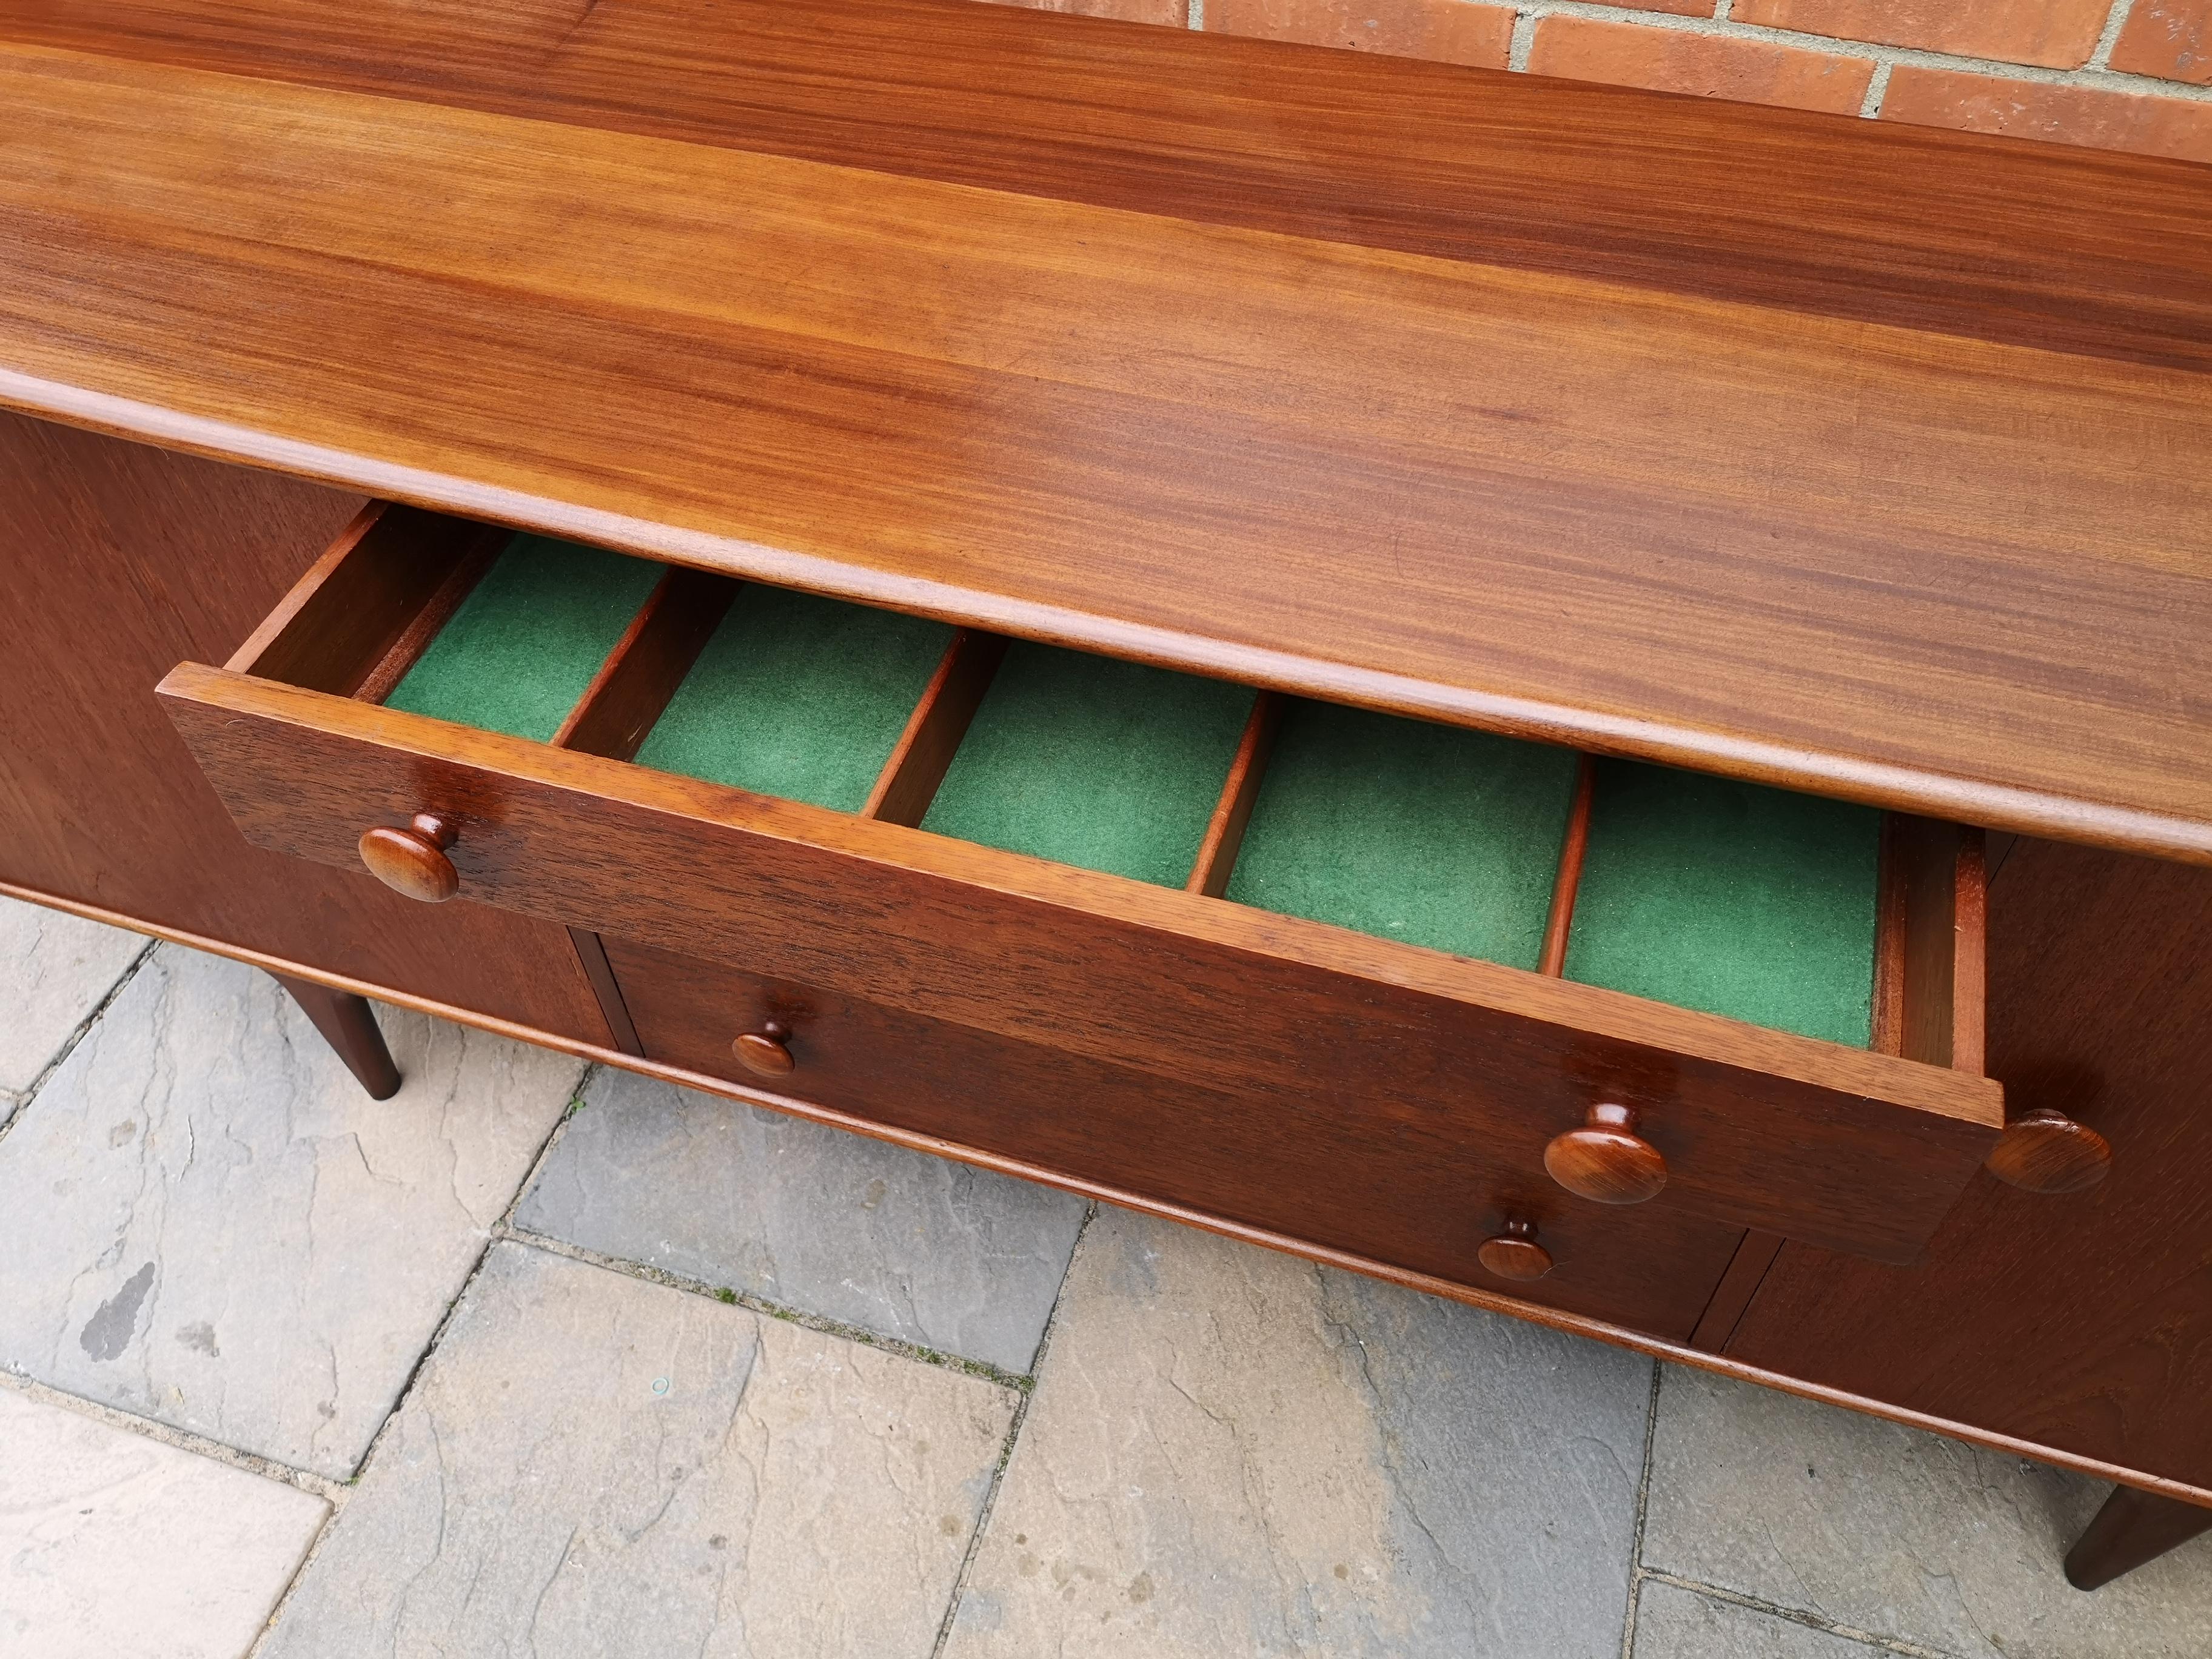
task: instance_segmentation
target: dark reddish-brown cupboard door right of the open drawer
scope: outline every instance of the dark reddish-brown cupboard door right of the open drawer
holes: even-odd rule
[[[2022,841],[1989,905],[1989,1071],[2112,1148],[2053,1199],[1982,1175],[1907,1274],[1790,1243],[1730,1358],[2212,1486],[2212,872]]]

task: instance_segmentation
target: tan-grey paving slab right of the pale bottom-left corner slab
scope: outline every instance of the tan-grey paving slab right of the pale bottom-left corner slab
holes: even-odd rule
[[[1013,1407],[498,1243],[263,1659],[929,1659]]]

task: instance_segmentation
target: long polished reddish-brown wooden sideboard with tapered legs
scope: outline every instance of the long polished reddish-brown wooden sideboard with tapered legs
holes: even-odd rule
[[[2212,170],[933,0],[0,97],[7,891],[2212,1524]],[[535,734],[394,697],[511,531],[657,566]],[[792,588],[874,783],[637,763]],[[1009,639],[1234,701],[1168,878],[927,816]],[[1239,900],[1298,699],[1593,757],[1526,962]],[[1577,978],[1624,761],[1891,814],[1865,1042]]]

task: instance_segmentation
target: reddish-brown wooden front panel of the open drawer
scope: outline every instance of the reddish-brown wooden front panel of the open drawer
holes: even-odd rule
[[[1170,1079],[1391,1104],[1400,1135],[1473,1110],[1531,1175],[1590,1099],[1637,1104],[1670,1208],[1880,1259],[2002,1121],[1955,1071],[902,825],[212,668],[164,701],[259,845],[347,863],[429,801],[471,896]]]

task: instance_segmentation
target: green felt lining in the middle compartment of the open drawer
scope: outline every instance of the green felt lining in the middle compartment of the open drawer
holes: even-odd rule
[[[1181,887],[1252,692],[1015,641],[922,830]]]

